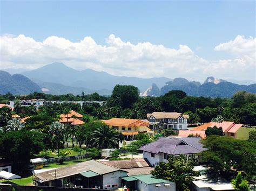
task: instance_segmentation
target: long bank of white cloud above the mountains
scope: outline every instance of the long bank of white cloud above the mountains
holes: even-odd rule
[[[204,80],[218,78],[255,79],[255,38],[237,36],[219,44],[214,51],[226,51],[227,60],[205,60],[186,45],[177,49],[151,43],[137,45],[124,42],[111,34],[106,45],[91,37],[78,43],[51,36],[43,41],[5,35],[0,37],[0,68],[37,68],[52,62],[63,62],[76,68],[103,70],[113,75],[156,77],[186,77]]]

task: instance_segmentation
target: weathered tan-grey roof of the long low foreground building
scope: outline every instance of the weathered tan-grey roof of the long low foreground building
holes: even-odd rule
[[[62,168],[52,169],[51,171],[42,172],[35,174],[36,178],[34,180],[38,182],[47,182],[51,180],[56,180],[64,177],[68,177],[75,174],[80,174],[83,172],[92,171],[99,175],[112,173],[116,171],[124,171],[116,167],[102,164],[101,162],[95,160],[89,160],[85,162],[80,162],[75,165],[70,165]],[[126,172],[126,171],[125,171]]]

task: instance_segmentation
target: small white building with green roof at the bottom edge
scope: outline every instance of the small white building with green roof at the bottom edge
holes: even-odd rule
[[[151,174],[134,175],[123,177],[122,185],[130,190],[138,191],[175,191],[176,183],[164,179],[154,178]]]

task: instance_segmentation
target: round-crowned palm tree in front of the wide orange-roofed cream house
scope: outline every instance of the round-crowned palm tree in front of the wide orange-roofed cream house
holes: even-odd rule
[[[98,148],[118,148],[119,133],[104,125],[92,133],[91,143]]]

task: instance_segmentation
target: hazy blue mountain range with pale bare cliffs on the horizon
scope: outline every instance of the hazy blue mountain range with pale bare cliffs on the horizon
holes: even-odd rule
[[[10,72],[18,72],[19,69]],[[0,94],[29,94],[33,91],[46,94],[86,94],[97,92],[100,95],[110,95],[116,84],[136,86],[141,96],[160,96],[170,90],[183,90],[191,96],[231,97],[240,90],[256,93],[256,84],[249,86],[239,85],[226,80],[207,77],[201,84],[197,81],[188,81],[184,78],[169,79],[167,77],[139,77],[114,76],[106,72],[97,72],[92,69],[82,71],[70,68],[63,63],[51,63],[44,67],[23,71],[21,74],[11,75],[0,72]],[[161,88],[158,88],[161,87]]]

